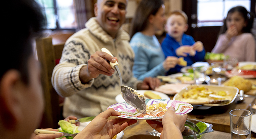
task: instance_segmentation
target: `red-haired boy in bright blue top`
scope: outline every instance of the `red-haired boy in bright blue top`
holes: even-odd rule
[[[185,34],[188,24],[187,15],[183,11],[177,10],[170,13],[165,29],[167,34],[162,42],[165,57],[184,57],[188,66],[204,60],[205,50],[203,43],[200,41],[195,42],[193,37]],[[176,65],[175,68],[169,70],[168,75],[180,72],[181,68],[181,65]]]

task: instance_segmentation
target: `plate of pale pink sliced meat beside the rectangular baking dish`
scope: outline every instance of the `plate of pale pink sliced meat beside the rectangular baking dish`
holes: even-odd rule
[[[190,85],[187,83],[166,83],[155,88],[155,91],[162,92],[168,95],[174,95],[182,90],[183,87]]]

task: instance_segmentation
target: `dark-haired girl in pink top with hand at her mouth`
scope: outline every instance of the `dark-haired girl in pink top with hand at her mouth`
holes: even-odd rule
[[[255,39],[251,34],[253,14],[242,6],[228,11],[213,53],[224,53],[238,61],[255,61]]]

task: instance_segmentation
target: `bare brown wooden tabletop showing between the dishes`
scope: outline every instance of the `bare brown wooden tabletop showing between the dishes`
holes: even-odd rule
[[[253,84],[256,84],[256,79],[250,79]],[[162,83],[164,84],[164,83]],[[247,93],[245,93],[247,94]],[[214,132],[206,133],[204,136],[205,139],[230,139],[230,121],[229,121],[229,111],[234,109],[247,109],[249,110],[249,104],[256,102],[256,90],[255,92],[249,92],[247,97],[244,97],[242,103],[233,102],[227,110],[220,113],[204,113],[204,111],[195,111],[188,114],[188,118],[200,120],[202,122],[210,123],[213,125]],[[173,99],[173,95],[169,96],[170,99]],[[255,124],[255,123],[252,123]],[[124,130],[124,136],[122,139],[126,139],[133,135],[138,134],[148,134],[153,131],[153,128],[150,127],[145,120],[138,120],[136,124],[128,126]],[[170,131],[171,132],[171,131]],[[252,132],[252,138],[256,138],[256,133]]]

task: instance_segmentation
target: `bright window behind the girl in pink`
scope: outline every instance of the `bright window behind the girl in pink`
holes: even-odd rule
[[[250,11],[251,0],[197,0],[197,26],[222,26],[229,9],[235,6]]]

